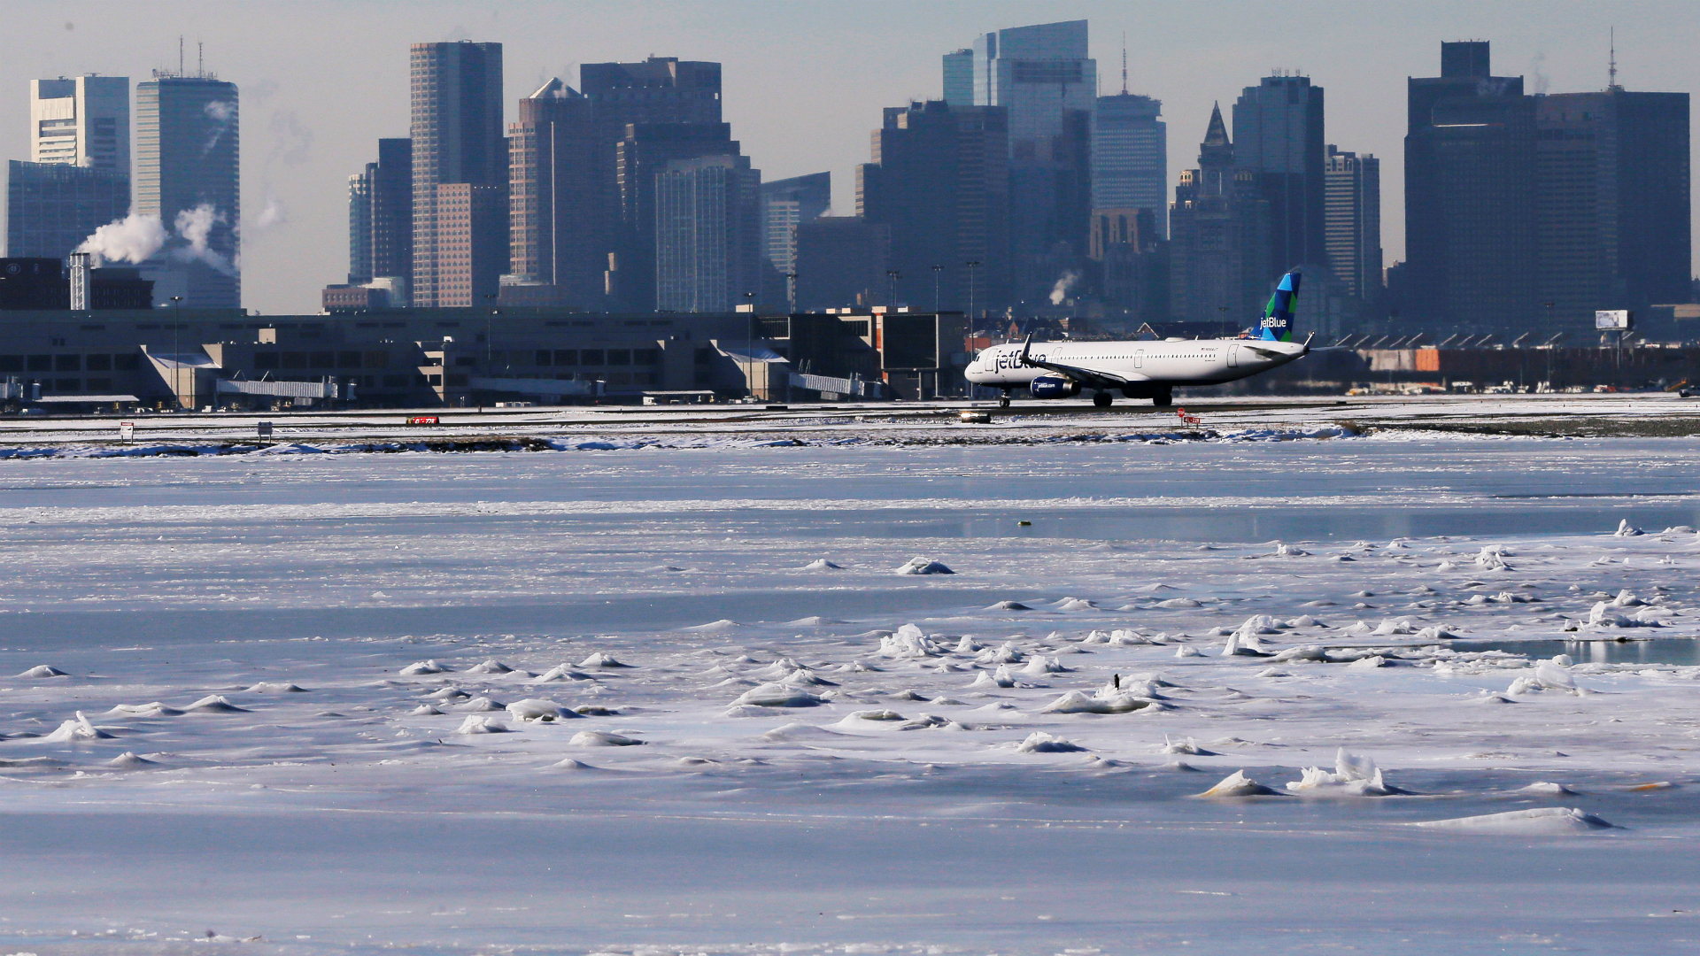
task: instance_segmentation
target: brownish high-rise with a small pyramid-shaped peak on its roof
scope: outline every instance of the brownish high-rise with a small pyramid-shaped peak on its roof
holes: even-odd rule
[[[600,304],[612,236],[592,100],[559,78],[544,83],[508,124],[508,156],[512,274],[503,282],[551,286],[561,304]]]

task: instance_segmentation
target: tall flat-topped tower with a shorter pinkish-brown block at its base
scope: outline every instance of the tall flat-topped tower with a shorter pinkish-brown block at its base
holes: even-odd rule
[[[493,214],[508,185],[502,44],[415,43],[411,88],[411,303],[483,304],[496,294],[508,259],[507,214]],[[439,202],[444,216],[454,216],[452,228],[440,221]]]

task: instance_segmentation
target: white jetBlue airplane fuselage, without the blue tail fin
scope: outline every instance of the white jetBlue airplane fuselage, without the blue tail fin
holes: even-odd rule
[[[1022,361],[1022,344],[993,345],[969,362],[967,381],[986,388],[1030,388],[1039,376],[1080,379],[1083,390],[1115,388],[1129,398],[1166,396],[1180,386],[1205,386],[1285,366],[1307,352],[1302,342],[1277,342],[1266,339],[1183,339],[1183,340],[1132,340],[1132,342],[1034,342],[1030,362]],[[1125,384],[1107,386],[1088,376],[1059,373],[1039,364],[1068,366],[1098,373],[1105,381]]]

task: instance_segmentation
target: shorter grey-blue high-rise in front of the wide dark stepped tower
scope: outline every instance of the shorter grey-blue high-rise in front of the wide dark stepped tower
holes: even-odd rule
[[[762,172],[748,156],[672,160],[656,175],[658,311],[733,311],[760,293]]]

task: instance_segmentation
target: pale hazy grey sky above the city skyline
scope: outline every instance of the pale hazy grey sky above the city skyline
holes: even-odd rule
[[[177,65],[177,37],[241,88],[243,298],[262,313],[318,311],[347,274],[347,177],[379,136],[408,134],[408,44],[505,44],[513,100],[578,63],[678,56],[724,63],[724,114],[765,179],[833,174],[833,206],[855,211],[881,107],[940,95],[938,56],[974,34],[1091,20],[1103,92],[1163,100],[1170,185],[1197,160],[1221,100],[1273,68],[1328,90],[1328,141],[1382,158],[1382,243],[1404,257],[1404,80],[1440,71],[1440,41],[1493,41],[1494,73],[1530,92],[1618,82],[1700,88],[1700,3],[1583,2],[0,2],[0,158],[29,158],[29,80],[105,73],[131,82]],[[267,214],[267,209],[270,213]]]

